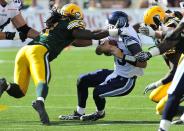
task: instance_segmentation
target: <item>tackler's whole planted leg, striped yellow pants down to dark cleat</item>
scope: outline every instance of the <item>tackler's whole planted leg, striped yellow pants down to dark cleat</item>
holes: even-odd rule
[[[36,86],[37,100],[32,104],[38,112],[43,124],[50,124],[48,114],[45,110],[44,101],[48,94],[48,82],[50,80],[50,64],[48,61],[48,50],[42,45],[30,46],[26,56],[30,63],[31,77]]]

